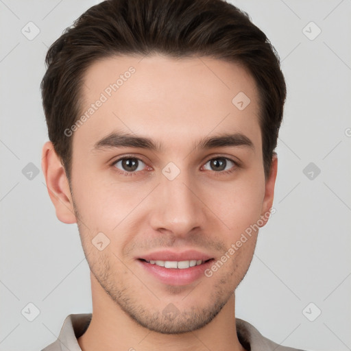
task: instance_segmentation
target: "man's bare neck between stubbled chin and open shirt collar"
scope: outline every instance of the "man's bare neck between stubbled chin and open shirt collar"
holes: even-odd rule
[[[234,293],[219,314],[206,326],[191,332],[168,335],[139,325],[111,300],[90,274],[93,317],[84,335],[77,339],[82,351],[245,351],[237,337]]]

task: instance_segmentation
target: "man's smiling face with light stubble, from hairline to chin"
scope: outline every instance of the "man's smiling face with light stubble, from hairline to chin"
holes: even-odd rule
[[[257,230],[245,233],[273,200],[254,80],[162,56],[104,59],[84,77],[71,191],[90,270],[142,326],[201,328],[245,276]]]

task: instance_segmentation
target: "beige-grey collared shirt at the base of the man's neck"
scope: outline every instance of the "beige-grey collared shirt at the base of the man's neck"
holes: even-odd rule
[[[84,334],[90,324],[91,317],[91,313],[68,315],[64,319],[58,339],[41,351],[82,351],[77,338]],[[278,343],[263,337],[250,323],[239,318],[235,320],[238,339],[247,351],[303,351],[280,346]]]

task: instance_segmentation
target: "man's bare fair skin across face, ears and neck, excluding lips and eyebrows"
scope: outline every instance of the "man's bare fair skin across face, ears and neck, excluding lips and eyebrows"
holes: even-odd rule
[[[43,173],[58,219],[77,223],[90,267],[93,319],[78,339],[92,350],[244,350],[234,319],[234,290],[250,266],[258,231],[210,278],[189,285],[160,282],[136,260],[170,248],[194,249],[217,261],[246,228],[272,206],[277,159],[265,179],[258,91],[239,64],[213,58],[112,57],[92,64],[84,76],[82,113],[118,75],[123,82],[73,138],[71,189],[53,145],[43,147]],[[250,104],[239,110],[239,92]],[[135,147],[93,151],[112,131],[131,132],[162,143],[162,151]],[[206,136],[239,132],[253,147],[195,149]],[[134,175],[121,156],[139,158]],[[223,173],[210,160],[229,160]],[[162,169],[173,162],[180,174]],[[263,219],[264,226],[267,219]],[[97,250],[92,239],[110,240]],[[173,304],[173,319],[162,315]]]

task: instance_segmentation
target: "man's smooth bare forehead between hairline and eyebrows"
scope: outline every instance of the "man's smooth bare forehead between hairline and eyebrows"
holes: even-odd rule
[[[113,56],[84,74],[75,138],[92,147],[114,130],[180,147],[208,134],[241,132],[261,142],[258,91],[240,64],[213,58]],[[168,142],[168,143],[167,143]]]

